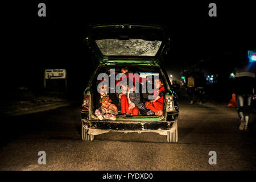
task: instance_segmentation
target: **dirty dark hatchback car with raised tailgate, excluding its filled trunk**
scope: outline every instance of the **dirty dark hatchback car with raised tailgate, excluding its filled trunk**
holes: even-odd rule
[[[93,140],[94,135],[109,131],[155,132],[167,135],[168,142],[177,142],[177,96],[162,66],[164,55],[170,47],[166,28],[155,25],[108,24],[90,26],[88,29],[89,36],[85,43],[97,66],[84,91],[81,108],[82,139]],[[119,70],[122,67],[137,68],[140,73],[154,72],[162,78],[165,88],[162,115],[127,117],[118,114],[115,121],[100,120],[94,115],[97,75],[102,70],[107,72],[111,68]]]

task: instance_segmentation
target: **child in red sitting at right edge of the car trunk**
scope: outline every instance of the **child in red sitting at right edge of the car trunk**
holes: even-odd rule
[[[145,105],[148,109],[154,111],[155,115],[162,115],[163,114],[163,96],[164,96],[164,86],[160,79],[155,80],[155,90],[154,100],[150,102],[146,102]]]

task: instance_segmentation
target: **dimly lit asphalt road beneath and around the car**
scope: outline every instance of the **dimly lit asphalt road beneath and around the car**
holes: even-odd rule
[[[238,130],[236,109],[180,101],[179,141],[157,133],[80,135],[79,107],[1,119],[0,170],[255,170],[255,114]],[[46,152],[46,165],[38,152]],[[210,165],[209,151],[217,164]]]

